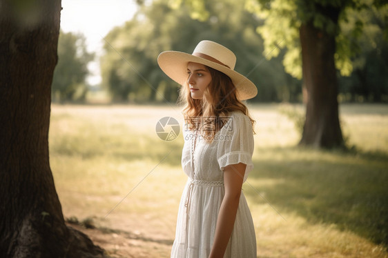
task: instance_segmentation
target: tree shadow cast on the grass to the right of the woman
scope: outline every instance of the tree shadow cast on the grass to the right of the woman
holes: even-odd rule
[[[296,147],[255,152],[249,181],[280,213],[335,224],[388,247],[387,154]],[[244,193],[265,202],[252,188]]]

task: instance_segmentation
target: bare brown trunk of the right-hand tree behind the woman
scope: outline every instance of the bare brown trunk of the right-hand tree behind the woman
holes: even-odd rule
[[[338,119],[338,82],[333,35],[314,28],[312,23],[300,27],[302,74],[307,93],[306,121],[300,145],[333,148],[343,145]]]

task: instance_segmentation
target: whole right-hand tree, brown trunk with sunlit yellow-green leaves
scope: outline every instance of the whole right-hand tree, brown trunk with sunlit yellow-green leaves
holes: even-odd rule
[[[362,0],[247,1],[249,10],[265,19],[258,31],[266,50],[287,48],[283,60],[287,72],[303,77],[307,108],[300,145],[343,146],[336,68],[342,75],[350,74],[357,46],[344,37],[340,23],[347,21],[349,10],[376,6],[378,3]],[[354,23],[354,34],[360,34],[362,25],[361,21]],[[273,51],[271,56],[277,54]]]

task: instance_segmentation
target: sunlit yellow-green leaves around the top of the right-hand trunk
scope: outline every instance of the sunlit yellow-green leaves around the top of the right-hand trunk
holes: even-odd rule
[[[246,8],[264,19],[258,32],[264,39],[265,50],[271,51],[268,57],[278,56],[280,50],[274,50],[277,47],[287,49],[284,68],[299,79],[302,78],[299,42],[302,23],[313,23],[314,27],[336,36],[336,67],[342,76],[349,76],[353,70],[351,59],[360,51],[356,42],[373,22],[362,21],[362,14],[370,10],[387,12],[387,4],[382,6],[370,0],[246,0]],[[353,22],[349,23],[349,20]],[[385,35],[387,31],[387,26],[380,28]]]

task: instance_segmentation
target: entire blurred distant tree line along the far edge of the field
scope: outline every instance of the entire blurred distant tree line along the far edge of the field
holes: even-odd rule
[[[177,8],[174,1],[141,2],[135,16],[104,39],[101,87],[113,101],[175,102],[177,83],[159,69],[157,55],[164,50],[191,52],[202,39],[217,41],[235,52],[236,70],[258,86],[258,96],[251,101],[302,101],[300,53],[291,52],[295,58],[287,56],[290,53],[282,48],[287,39],[277,37],[271,28],[267,28],[269,37],[277,38],[272,48],[265,47],[257,28],[266,20],[239,1],[207,3],[206,19],[188,6]],[[382,15],[387,11],[387,6],[349,10],[347,22],[340,24],[339,40],[347,41],[341,50],[347,57],[342,61],[345,65],[338,68],[340,101],[388,102],[388,35]],[[53,99],[84,99],[86,67],[93,55],[86,52],[81,35],[71,33],[61,32],[58,50]]]

